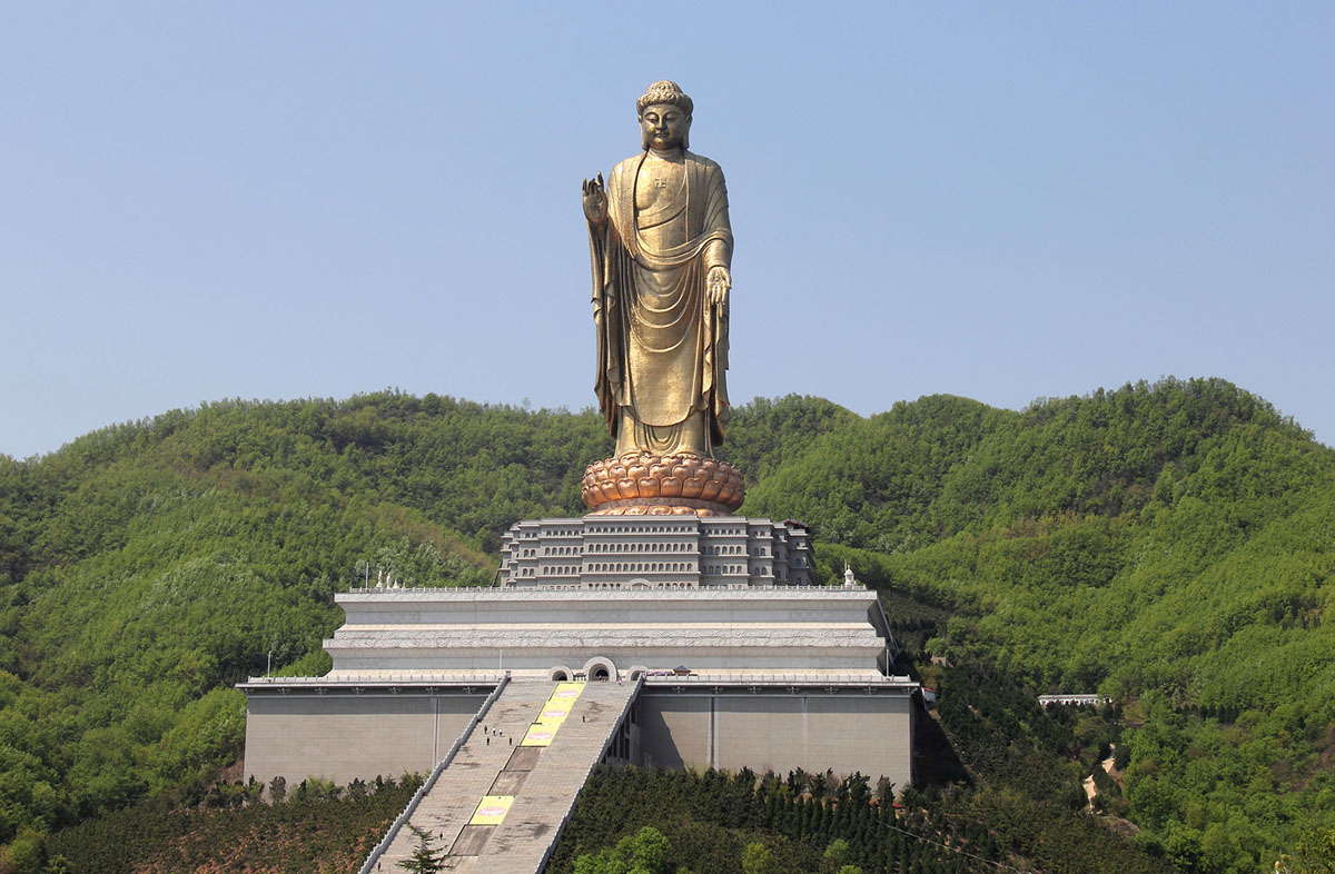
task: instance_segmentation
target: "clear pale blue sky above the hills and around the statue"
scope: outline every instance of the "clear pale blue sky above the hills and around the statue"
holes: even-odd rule
[[[12,3],[0,452],[224,398],[594,403],[579,180],[674,79],[732,395],[1222,376],[1335,443],[1335,4]]]

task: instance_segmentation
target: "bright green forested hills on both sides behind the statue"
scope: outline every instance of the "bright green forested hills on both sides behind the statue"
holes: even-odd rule
[[[734,411],[744,512],[813,524],[906,639],[1123,705],[1127,815],[1197,870],[1335,827],[1335,452],[1222,380],[1024,412]],[[0,456],[0,842],[199,798],[263,673],[319,673],[332,592],[485,583],[514,520],[579,512],[591,412],[396,392],[228,402]],[[1270,859],[1272,861],[1272,859]],[[1266,862],[1268,865],[1268,862]]]

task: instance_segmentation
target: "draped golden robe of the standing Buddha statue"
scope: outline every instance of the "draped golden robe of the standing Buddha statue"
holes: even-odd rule
[[[613,168],[607,222],[589,226],[594,391],[617,455],[710,456],[728,422],[728,303],[710,304],[705,280],[732,264],[728,189],[718,164],[686,151],[680,188],[639,207],[649,160]]]

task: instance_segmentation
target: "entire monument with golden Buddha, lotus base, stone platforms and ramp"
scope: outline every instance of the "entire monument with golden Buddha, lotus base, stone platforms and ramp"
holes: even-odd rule
[[[495,584],[339,594],[324,677],[252,678],[246,775],[429,774],[363,871],[439,835],[449,870],[541,871],[599,762],[912,781],[914,695],[876,592],[813,579],[798,522],[736,515],[732,231],[669,81],[643,149],[583,184],[597,378],[615,455],[589,514],[522,520]]]

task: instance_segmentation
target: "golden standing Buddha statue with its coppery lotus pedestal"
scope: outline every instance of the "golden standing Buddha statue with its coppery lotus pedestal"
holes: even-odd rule
[[[590,466],[598,512],[736,510],[741,474],[716,462],[728,422],[733,232],[718,164],[688,151],[693,104],[673,81],[635,103],[642,149],[583,183],[598,335],[594,391],[617,438]]]

